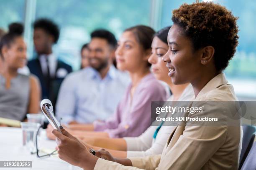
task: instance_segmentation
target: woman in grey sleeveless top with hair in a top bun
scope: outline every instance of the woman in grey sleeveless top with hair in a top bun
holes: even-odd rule
[[[0,40],[0,117],[23,121],[26,113],[38,113],[41,90],[38,79],[18,73],[27,62],[23,25],[9,25]]]

